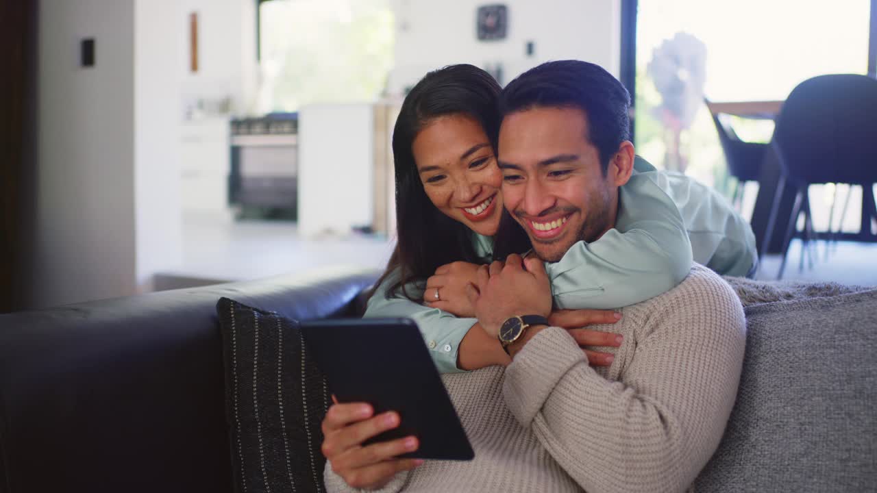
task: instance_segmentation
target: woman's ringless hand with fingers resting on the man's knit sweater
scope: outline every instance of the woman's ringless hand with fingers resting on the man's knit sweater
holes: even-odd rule
[[[613,332],[599,332],[583,327],[587,325],[615,324],[621,313],[611,310],[558,310],[553,311],[548,321],[551,325],[567,329],[579,346],[620,347],[623,337]],[[588,356],[592,367],[608,367],[615,361],[609,353],[582,349]]]

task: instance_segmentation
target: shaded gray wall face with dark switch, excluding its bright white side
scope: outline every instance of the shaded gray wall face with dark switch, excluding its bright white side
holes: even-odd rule
[[[39,1],[31,306],[134,290],[133,17],[130,0]]]

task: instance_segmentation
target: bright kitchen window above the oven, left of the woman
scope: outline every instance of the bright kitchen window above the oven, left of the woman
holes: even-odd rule
[[[373,101],[393,62],[389,0],[262,0],[259,111]]]

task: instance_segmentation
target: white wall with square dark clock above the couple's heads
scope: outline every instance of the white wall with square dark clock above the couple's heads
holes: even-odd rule
[[[395,68],[390,94],[401,94],[426,72],[452,63],[481,68],[503,64],[503,84],[550,60],[594,62],[618,76],[620,0],[507,0],[508,36],[479,41],[475,12],[481,0],[392,0],[396,12]],[[533,56],[526,43],[533,41]]]

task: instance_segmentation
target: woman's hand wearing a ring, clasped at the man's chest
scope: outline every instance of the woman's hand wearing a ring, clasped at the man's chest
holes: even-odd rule
[[[469,303],[466,287],[475,283],[479,267],[478,264],[458,261],[437,268],[436,273],[426,280],[424,304],[457,317],[474,317],[475,307]]]

